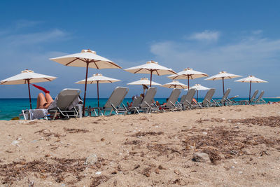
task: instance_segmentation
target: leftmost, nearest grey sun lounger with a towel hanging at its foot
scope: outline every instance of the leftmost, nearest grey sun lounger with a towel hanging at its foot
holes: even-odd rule
[[[79,95],[79,89],[66,88],[59,92],[48,109],[24,110],[22,111],[22,116],[30,120],[38,118],[76,118],[78,116],[81,118],[81,104],[83,101],[80,99]]]

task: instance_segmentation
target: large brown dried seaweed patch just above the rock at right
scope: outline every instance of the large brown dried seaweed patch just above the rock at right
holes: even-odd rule
[[[270,147],[277,147],[280,139],[270,139],[260,134],[248,134],[225,127],[211,127],[209,130],[189,130],[193,135],[187,135],[183,140],[186,151],[192,148],[209,154],[212,163],[218,160],[233,158],[234,156],[246,155],[248,146],[265,144]],[[186,131],[184,131],[186,132]]]

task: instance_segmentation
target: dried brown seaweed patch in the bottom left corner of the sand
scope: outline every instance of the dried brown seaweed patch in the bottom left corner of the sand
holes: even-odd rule
[[[31,172],[41,179],[46,179],[52,176],[57,183],[65,181],[65,177],[71,174],[75,176],[76,183],[83,178],[81,172],[88,165],[85,165],[85,158],[69,159],[69,158],[50,158],[39,159],[31,162],[12,162],[9,164],[0,165],[0,176],[3,184],[12,184],[13,181],[20,181]],[[99,158],[93,169],[101,168],[106,165],[106,160]]]

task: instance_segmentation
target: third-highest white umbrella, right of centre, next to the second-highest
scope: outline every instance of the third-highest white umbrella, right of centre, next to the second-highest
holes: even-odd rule
[[[201,77],[205,77],[205,76],[208,76],[208,75],[205,74],[205,73],[202,73],[200,71],[195,71],[195,70],[188,67],[188,68],[184,69],[183,71],[180,71],[176,75],[167,76],[167,77],[171,78],[173,80],[175,80],[175,79],[188,79],[188,87],[190,88],[190,79],[201,78]]]

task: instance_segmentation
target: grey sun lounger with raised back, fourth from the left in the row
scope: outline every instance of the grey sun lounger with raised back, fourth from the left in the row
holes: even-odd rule
[[[181,94],[181,90],[178,88],[174,88],[170,94],[170,96],[167,99],[167,103],[165,105],[161,105],[160,109],[162,111],[166,110],[181,110],[181,106],[179,106],[177,103],[179,95]]]

